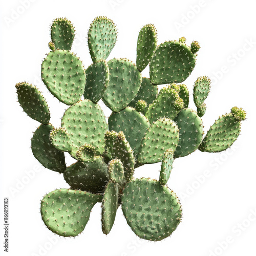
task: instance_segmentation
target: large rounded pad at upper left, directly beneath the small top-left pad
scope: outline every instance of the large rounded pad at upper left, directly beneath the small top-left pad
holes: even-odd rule
[[[81,99],[86,82],[82,61],[69,51],[48,53],[41,66],[42,81],[59,101],[72,105]]]

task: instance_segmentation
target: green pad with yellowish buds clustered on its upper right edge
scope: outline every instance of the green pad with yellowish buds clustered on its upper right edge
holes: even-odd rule
[[[175,84],[175,87],[179,89],[178,84]],[[183,108],[184,102],[179,93],[173,88],[172,84],[169,84],[161,89],[157,98],[148,107],[145,116],[150,120],[150,123],[161,117],[173,120]]]

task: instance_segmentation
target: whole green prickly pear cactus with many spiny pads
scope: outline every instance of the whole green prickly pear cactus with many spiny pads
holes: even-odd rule
[[[50,124],[49,106],[27,82],[16,84],[18,102],[40,122],[31,139],[32,153],[46,168],[63,174],[70,188],[56,189],[41,200],[41,218],[54,233],[75,237],[85,228],[96,203],[102,205],[102,231],[108,234],[121,205],[127,224],[146,240],[160,241],[177,228],[181,204],[167,187],[175,159],[201,152],[221,152],[238,138],[245,111],[233,107],[203,137],[201,117],[210,79],[194,84],[197,111],[189,108],[189,92],[181,84],[196,65],[200,46],[165,41],[157,45],[152,24],[142,27],[136,64],[126,58],[106,60],[117,40],[111,19],[97,17],[88,31],[92,64],[85,70],[71,52],[75,36],[67,18],[51,25],[50,52],[41,78],[52,95],[68,105],[60,127]],[[141,71],[150,65],[149,77]],[[158,84],[166,84],[158,92]],[[83,97],[83,98],[82,98]],[[106,120],[98,102],[112,112]],[[66,166],[64,152],[76,161]],[[135,179],[135,168],[161,162],[159,181]]]

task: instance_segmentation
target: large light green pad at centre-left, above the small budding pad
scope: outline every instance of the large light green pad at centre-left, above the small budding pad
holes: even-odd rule
[[[67,129],[77,149],[88,143],[95,147],[97,155],[103,153],[108,124],[98,104],[88,99],[78,101],[66,110],[61,126]]]

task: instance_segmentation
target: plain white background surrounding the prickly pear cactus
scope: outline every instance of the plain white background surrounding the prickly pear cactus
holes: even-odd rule
[[[1,200],[9,197],[10,201],[9,255],[256,254],[256,23],[252,3],[251,0],[2,2]],[[247,111],[241,136],[229,150],[215,154],[196,152],[175,160],[167,184],[181,199],[183,221],[172,237],[161,242],[138,239],[126,224],[120,208],[111,233],[105,236],[101,232],[100,204],[93,208],[86,228],[75,239],[55,236],[41,221],[42,196],[69,185],[62,175],[42,168],[34,159],[30,138],[39,123],[22,112],[14,86],[24,80],[36,85],[49,103],[51,123],[60,126],[67,106],[59,103],[40,81],[41,61],[50,51],[49,26],[56,17],[68,17],[73,22],[76,41],[72,51],[81,57],[84,67],[88,67],[92,61],[87,31],[92,20],[102,15],[113,19],[119,31],[110,58],[126,57],[136,61],[138,32],[148,23],[155,24],[159,43],[181,36],[187,38],[187,44],[193,40],[200,42],[197,66],[185,84],[191,92],[198,76],[212,79],[203,117],[205,132],[232,106]],[[148,77],[148,68],[143,76]],[[193,97],[190,107],[195,109]],[[103,111],[107,117],[111,113],[104,107]],[[70,164],[73,160],[67,157],[67,162]],[[159,166],[136,169],[135,177],[158,179]],[[1,232],[0,241],[3,240]]]

